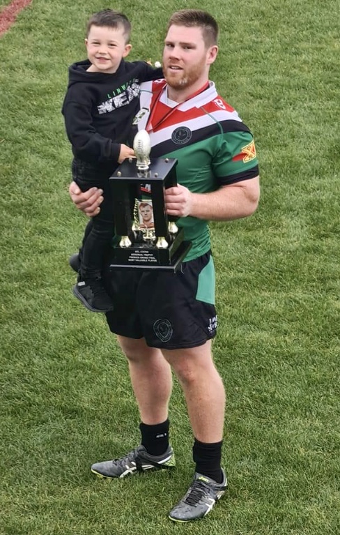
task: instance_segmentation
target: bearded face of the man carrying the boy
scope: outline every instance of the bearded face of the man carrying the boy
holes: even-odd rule
[[[163,72],[173,89],[186,89],[208,79],[211,48],[206,48],[201,28],[172,25],[164,41]],[[197,87],[199,89],[199,87]]]

